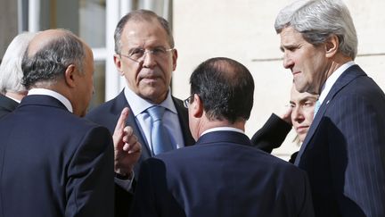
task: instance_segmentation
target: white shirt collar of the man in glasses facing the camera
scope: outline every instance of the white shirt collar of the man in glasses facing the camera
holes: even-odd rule
[[[131,111],[134,113],[135,116],[140,114],[140,113],[143,113],[148,108],[150,108],[150,107],[152,107],[154,105],[151,102],[143,99],[141,96],[137,96],[134,93],[134,91],[132,91],[127,86],[124,89],[124,94],[126,96],[127,102],[128,102],[128,99],[130,99],[129,100],[129,105],[131,107]],[[171,96],[170,91],[168,91],[168,96],[166,97],[166,99],[163,102],[161,102],[160,104],[157,104],[157,105],[160,105],[162,107],[167,108],[168,111],[170,111],[171,113],[177,113],[176,112],[176,106],[175,106],[175,104],[174,104],[174,102],[172,100],[172,96]]]

